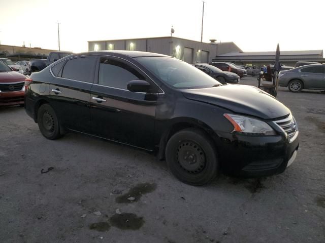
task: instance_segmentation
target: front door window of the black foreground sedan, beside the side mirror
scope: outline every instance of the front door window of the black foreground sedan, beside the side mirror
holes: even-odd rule
[[[101,59],[98,83],[109,87],[126,90],[127,83],[131,80],[145,80],[135,68],[123,62]]]

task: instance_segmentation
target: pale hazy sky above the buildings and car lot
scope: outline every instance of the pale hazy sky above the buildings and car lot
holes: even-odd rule
[[[324,50],[324,0],[205,0],[203,42],[243,51]],[[0,0],[3,45],[88,50],[87,41],[170,35],[200,41],[201,0]]]

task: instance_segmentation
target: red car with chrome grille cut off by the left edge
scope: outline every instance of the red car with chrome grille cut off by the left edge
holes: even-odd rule
[[[0,61],[0,106],[24,105],[25,78]]]

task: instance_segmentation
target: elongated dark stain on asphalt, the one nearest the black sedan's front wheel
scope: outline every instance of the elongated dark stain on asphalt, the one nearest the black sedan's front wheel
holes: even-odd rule
[[[153,192],[156,189],[157,185],[155,183],[140,183],[136,185],[135,187],[129,189],[128,192],[126,192],[123,195],[120,195],[116,197],[115,201],[118,204],[128,204],[132,203],[133,201],[139,201],[141,196],[143,194],[147,194],[150,192]],[[127,198],[134,197],[134,200],[128,200]]]

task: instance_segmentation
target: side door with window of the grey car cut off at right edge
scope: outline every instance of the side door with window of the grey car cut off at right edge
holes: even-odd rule
[[[306,89],[324,89],[324,66],[305,67],[300,69],[300,76]]]

